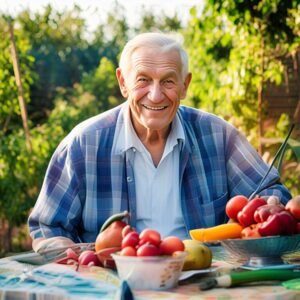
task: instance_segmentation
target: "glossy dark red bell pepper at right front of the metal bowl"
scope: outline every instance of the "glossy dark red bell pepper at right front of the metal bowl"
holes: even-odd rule
[[[297,232],[297,222],[287,211],[270,215],[265,222],[258,224],[261,236],[290,235]]]

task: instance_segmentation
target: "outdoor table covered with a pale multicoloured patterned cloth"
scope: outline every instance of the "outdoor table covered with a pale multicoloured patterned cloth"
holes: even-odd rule
[[[205,274],[180,281],[177,287],[166,291],[133,290],[135,299],[300,299],[300,290],[287,289],[279,282],[201,291],[199,280],[202,277],[213,276],[216,270],[240,267],[239,262],[228,260],[228,253],[222,247],[213,248],[216,249],[213,268]],[[0,299],[115,300],[120,297],[120,286],[116,271],[110,269],[80,266],[76,270],[75,265],[56,263],[33,266],[15,261],[14,256],[0,259]]]

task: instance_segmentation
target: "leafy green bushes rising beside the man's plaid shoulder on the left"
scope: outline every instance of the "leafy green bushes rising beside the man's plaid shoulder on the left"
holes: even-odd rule
[[[1,137],[0,239],[1,251],[14,250],[12,230],[26,223],[49,162],[59,142],[79,122],[97,114],[96,98],[74,87],[66,99],[60,90],[47,122],[31,129],[32,152],[26,149],[24,132],[15,129]]]

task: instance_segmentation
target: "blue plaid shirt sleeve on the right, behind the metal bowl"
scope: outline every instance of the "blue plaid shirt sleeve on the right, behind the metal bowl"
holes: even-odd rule
[[[247,141],[244,135],[235,128],[229,127],[227,133],[227,172],[231,197],[239,194],[249,197],[258,187],[269,169],[260,155]],[[291,194],[280,182],[278,171],[273,167],[263,181],[261,196],[276,195],[282,203],[286,203]]]

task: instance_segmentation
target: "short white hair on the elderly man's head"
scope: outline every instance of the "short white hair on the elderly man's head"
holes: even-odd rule
[[[130,63],[130,58],[133,52],[141,47],[159,47],[161,51],[178,51],[181,59],[181,73],[182,77],[185,78],[188,74],[188,55],[182,46],[182,37],[175,34],[165,34],[159,32],[147,32],[141,33],[129,40],[125,45],[120,61],[119,67],[122,70],[126,70]]]

